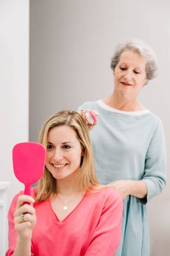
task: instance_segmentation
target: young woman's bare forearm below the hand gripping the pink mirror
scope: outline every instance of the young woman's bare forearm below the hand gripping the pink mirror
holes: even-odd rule
[[[13,256],[31,256],[31,239],[23,240],[20,237],[17,238],[17,243]]]

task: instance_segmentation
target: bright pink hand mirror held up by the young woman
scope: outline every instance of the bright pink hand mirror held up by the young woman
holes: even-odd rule
[[[30,195],[31,185],[43,174],[46,150],[35,142],[23,142],[13,147],[13,171],[16,178],[24,183],[25,195]]]

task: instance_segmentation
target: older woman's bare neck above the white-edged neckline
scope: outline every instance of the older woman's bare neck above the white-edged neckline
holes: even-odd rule
[[[144,110],[144,106],[142,106],[133,96],[120,95],[117,92],[113,92],[113,94],[105,99],[103,99],[104,103],[112,108],[116,108],[118,110],[123,111],[139,111]]]

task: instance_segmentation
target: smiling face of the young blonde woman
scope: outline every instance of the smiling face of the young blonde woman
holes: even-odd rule
[[[84,155],[76,132],[68,126],[56,126],[48,133],[46,168],[55,179],[63,179],[79,170]]]

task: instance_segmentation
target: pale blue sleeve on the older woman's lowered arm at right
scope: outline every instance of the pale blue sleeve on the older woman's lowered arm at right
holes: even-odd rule
[[[166,185],[166,142],[161,120],[158,119],[145,159],[145,171],[142,180],[146,183],[146,198],[138,198],[146,204],[153,196],[162,192]]]

